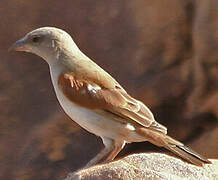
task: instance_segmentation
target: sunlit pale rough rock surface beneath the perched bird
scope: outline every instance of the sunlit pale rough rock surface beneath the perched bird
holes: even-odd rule
[[[143,153],[69,174],[65,180],[217,180],[218,160],[198,167],[161,153]]]

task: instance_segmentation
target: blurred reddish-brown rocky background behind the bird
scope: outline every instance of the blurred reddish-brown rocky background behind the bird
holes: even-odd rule
[[[218,1],[1,0],[0,179],[55,180],[102,148],[60,108],[47,64],[8,47],[55,26],[153,111],[171,136],[218,158]],[[120,157],[163,151],[133,143]]]

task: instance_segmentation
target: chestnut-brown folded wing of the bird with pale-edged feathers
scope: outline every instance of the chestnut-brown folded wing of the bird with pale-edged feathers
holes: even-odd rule
[[[166,128],[154,120],[151,111],[117,86],[117,83],[114,88],[108,89],[87,79],[77,79],[72,73],[65,73],[59,76],[58,84],[65,96],[75,104],[88,109],[110,111],[124,119],[166,133]]]

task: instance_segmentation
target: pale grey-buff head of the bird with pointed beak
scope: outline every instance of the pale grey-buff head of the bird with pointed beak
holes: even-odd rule
[[[30,52],[48,61],[57,59],[62,52],[78,51],[78,47],[65,31],[54,27],[42,27],[27,33],[9,50]]]

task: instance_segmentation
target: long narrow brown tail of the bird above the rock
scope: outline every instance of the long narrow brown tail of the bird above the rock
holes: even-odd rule
[[[164,147],[194,165],[203,166],[204,164],[211,163],[204,156],[164,133],[147,128],[138,129],[138,133],[143,134],[152,144]]]

